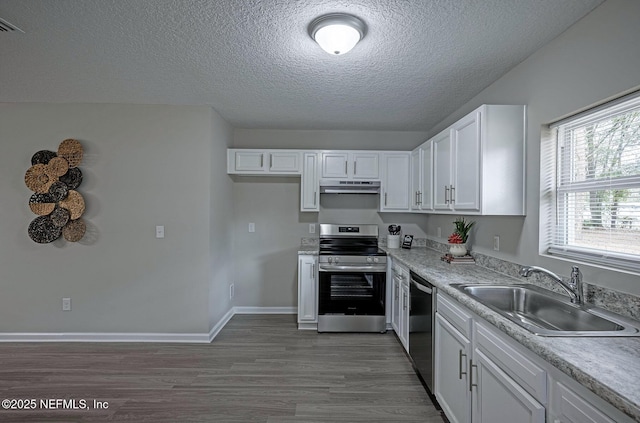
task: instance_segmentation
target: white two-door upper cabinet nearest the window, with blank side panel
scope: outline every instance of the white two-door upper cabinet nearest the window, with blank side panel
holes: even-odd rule
[[[484,105],[431,139],[436,212],[524,215],[525,106]]]

